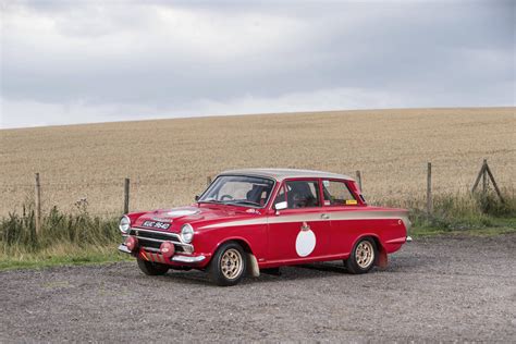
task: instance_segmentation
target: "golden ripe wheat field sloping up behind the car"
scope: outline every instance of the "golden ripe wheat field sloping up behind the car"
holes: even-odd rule
[[[86,198],[95,214],[185,205],[207,176],[236,168],[363,174],[377,204],[466,192],[487,158],[502,188],[516,184],[516,108],[360,110],[209,116],[0,131],[0,216],[21,211],[41,175],[44,209]]]

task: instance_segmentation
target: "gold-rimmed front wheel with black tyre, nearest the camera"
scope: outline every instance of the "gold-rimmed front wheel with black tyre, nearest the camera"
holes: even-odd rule
[[[245,251],[237,243],[219,247],[209,267],[210,280],[221,286],[237,284],[247,269]]]

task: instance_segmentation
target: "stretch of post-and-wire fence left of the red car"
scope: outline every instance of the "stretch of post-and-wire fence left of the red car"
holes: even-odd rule
[[[10,212],[37,207],[42,212],[51,208],[65,212],[87,211],[91,216],[113,217],[127,211],[150,210],[169,206],[192,204],[194,197],[206,188],[206,181],[130,181],[112,182],[45,182],[0,184],[0,217]],[[39,191],[39,200],[37,193]]]

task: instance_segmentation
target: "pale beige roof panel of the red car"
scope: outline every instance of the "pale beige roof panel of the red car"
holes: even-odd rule
[[[312,171],[312,170],[296,170],[296,169],[242,169],[242,170],[230,170],[220,173],[221,175],[256,175],[272,177],[278,182],[291,177],[325,177],[325,179],[339,179],[354,181],[348,175],[337,174],[332,172]]]

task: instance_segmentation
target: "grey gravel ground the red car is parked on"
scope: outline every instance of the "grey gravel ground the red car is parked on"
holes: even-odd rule
[[[433,237],[385,270],[282,268],[234,287],[135,262],[0,272],[0,342],[516,339],[516,235]]]

